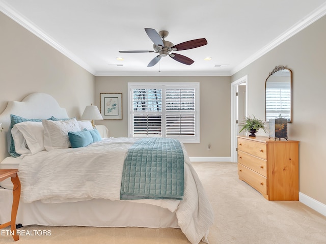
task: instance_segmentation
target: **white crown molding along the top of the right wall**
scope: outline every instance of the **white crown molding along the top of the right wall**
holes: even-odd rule
[[[326,14],[326,3],[321,5],[321,7],[317,8],[315,11],[311,12],[305,18],[303,18],[300,22],[294,24],[290,29],[284,32],[282,35],[274,39],[272,42],[267,44],[265,47],[260,49],[258,52],[254,53],[252,56],[244,60],[241,64],[236,66],[234,69],[231,70],[231,75],[234,75],[236,72],[242,70],[244,67],[253,63],[256,59],[263,56],[270,50],[274,49],[281,43],[285,42],[289,38],[293,37],[298,32],[301,32],[304,28],[312,24],[313,22],[317,21],[321,17]]]

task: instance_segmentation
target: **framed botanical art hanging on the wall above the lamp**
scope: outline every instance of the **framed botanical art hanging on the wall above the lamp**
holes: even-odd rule
[[[104,119],[122,119],[122,93],[100,93],[100,101]]]

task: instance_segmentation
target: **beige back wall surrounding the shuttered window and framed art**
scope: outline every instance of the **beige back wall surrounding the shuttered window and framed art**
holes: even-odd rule
[[[122,93],[123,117],[96,121],[105,125],[112,137],[128,136],[128,82],[200,82],[200,143],[186,143],[191,157],[230,157],[230,77],[96,77],[96,104],[100,93]],[[207,145],[211,144],[211,150]]]

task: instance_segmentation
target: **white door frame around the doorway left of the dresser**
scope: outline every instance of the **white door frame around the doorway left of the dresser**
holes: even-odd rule
[[[246,83],[246,116],[248,116],[248,75],[245,75],[231,83],[231,162],[237,162],[237,135],[238,135],[238,86]]]

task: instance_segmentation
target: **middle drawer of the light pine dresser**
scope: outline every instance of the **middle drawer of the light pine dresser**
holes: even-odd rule
[[[238,163],[267,177],[267,161],[264,159],[238,151]]]

